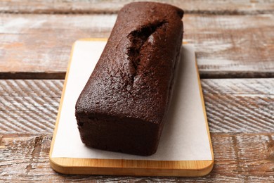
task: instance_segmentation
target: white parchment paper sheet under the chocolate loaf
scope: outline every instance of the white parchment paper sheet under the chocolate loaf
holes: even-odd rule
[[[195,50],[184,44],[178,65],[168,121],[164,125],[157,152],[134,156],[91,149],[82,144],[74,106],[102,53],[106,42],[77,41],[74,44],[52,158],[105,158],[131,160],[212,160],[207,122],[200,96]]]

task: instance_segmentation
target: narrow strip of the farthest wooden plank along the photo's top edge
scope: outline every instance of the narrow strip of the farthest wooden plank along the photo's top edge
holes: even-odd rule
[[[0,13],[117,13],[124,4],[133,0],[105,0],[105,1],[30,1],[12,0],[0,2]],[[203,14],[257,14],[273,13],[273,1],[167,1],[157,2],[169,3],[183,8],[185,13]]]

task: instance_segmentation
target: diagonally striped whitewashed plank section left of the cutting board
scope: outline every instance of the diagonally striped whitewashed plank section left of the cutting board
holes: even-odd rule
[[[0,80],[0,134],[51,133],[63,81]]]

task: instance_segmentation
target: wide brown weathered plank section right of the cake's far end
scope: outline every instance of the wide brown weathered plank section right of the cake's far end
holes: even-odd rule
[[[273,15],[185,15],[184,20],[184,41],[195,44],[202,78],[274,76]]]

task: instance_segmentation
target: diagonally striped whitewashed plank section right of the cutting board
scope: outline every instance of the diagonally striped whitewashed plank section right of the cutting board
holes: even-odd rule
[[[211,132],[273,132],[273,79],[202,80],[202,89]]]

